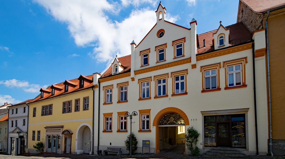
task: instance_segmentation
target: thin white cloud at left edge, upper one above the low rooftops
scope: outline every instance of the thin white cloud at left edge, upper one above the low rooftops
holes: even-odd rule
[[[30,93],[36,93],[40,91],[40,88],[47,88],[47,85],[40,86],[39,84],[30,84],[27,81],[21,81],[17,79],[11,79],[11,80],[1,80],[0,84],[5,85],[6,87],[17,87],[17,88],[22,88],[25,92],[30,92]]]

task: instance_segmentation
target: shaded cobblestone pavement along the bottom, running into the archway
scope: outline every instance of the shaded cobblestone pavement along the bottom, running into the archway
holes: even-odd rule
[[[184,147],[184,145],[182,145]],[[180,146],[175,146],[171,150],[164,150],[159,154],[135,154],[132,158],[137,159],[203,159],[197,156],[183,155],[184,148]],[[249,156],[252,159],[285,159],[285,156]],[[0,159],[131,159],[128,154],[123,154],[121,156],[98,156],[89,154],[31,154],[30,156],[11,156],[11,155],[0,155]]]

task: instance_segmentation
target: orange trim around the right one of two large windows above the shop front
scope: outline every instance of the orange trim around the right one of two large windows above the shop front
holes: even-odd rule
[[[238,65],[241,64],[241,71],[242,71],[242,85],[246,85],[246,78],[245,78],[245,64],[247,64],[247,57],[229,60],[229,61],[223,61],[223,68],[225,68],[225,88],[228,86],[228,66],[232,65]]]

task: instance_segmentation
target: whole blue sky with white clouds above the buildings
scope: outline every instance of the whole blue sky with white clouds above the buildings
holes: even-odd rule
[[[161,0],[162,1],[162,0]],[[103,71],[156,23],[156,0],[0,1],[0,105]],[[165,0],[166,20],[197,34],[236,23],[238,0]]]

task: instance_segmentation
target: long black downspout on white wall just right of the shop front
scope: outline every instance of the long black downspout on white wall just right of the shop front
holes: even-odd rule
[[[255,142],[256,155],[258,155],[258,134],[257,134],[257,108],[256,108],[256,89],[255,89],[255,57],[254,57],[254,41],[252,43],[252,64],[253,64],[253,94],[254,94],[254,117],[255,117]]]

